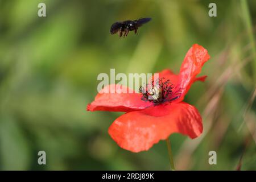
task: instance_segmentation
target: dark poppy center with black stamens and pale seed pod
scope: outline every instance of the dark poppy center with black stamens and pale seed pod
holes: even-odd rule
[[[175,94],[172,92],[173,88],[174,86],[171,84],[170,80],[158,78],[155,81],[152,80],[151,84],[147,84],[146,88],[140,86],[139,92],[142,93],[141,100],[161,104],[179,98],[179,96],[174,96]]]

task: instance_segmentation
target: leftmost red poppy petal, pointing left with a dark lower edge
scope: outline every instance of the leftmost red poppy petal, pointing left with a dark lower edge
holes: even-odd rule
[[[110,93],[111,88],[115,88],[115,93]],[[126,90],[126,93],[121,93],[121,90]],[[126,86],[108,85],[102,89],[100,93],[97,94],[91,104],[88,104],[86,110],[129,112],[134,110],[141,110],[152,105],[151,102],[142,101],[141,97],[142,94],[135,93],[133,90],[127,88]]]

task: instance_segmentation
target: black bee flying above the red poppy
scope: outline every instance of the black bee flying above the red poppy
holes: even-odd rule
[[[140,18],[137,20],[126,20],[123,22],[115,22],[112,24],[110,28],[110,34],[115,34],[118,32],[119,37],[125,37],[129,34],[129,31],[133,31],[137,34],[137,30],[142,24],[147,23],[151,20],[151,18]]]

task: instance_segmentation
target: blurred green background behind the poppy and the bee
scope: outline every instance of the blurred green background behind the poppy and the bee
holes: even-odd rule
[[[38,17],[38,3],[47,17]],[[208,16],[210,2],[217,17]],[[165,141],[138,154],[108,127],[122,113],[89,112],[97,75],[178,72],[194,43],[211,59],[185,101],[204,133],[171,135],[177,169],[256,170],[256,1],[0,0],[0,169],[168,170]],[[117,20],[151,17],[138,35],[110,35]],[[47,164],[38,165],[44,150]],[[209,165],[208,152],[217,152]]]

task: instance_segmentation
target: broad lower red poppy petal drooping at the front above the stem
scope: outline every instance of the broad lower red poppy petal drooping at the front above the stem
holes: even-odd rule
[[[151,106],[141,111],[126,113],[115,119],[109,127],[113,140],[120,147],[132,152],[148,150],[172,133],[196,138],[202,131],[199,112],[185,102]]]

